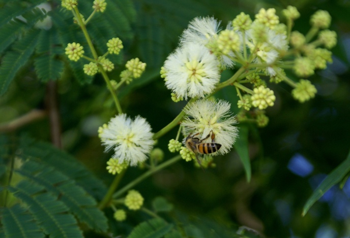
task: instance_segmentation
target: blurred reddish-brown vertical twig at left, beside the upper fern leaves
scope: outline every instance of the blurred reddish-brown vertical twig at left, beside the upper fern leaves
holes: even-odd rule
[[[50,120],[51,142],[57,148],[62,148],[61,120],[57,104],[57,83],[49,81],[46,85],[46,109]]]

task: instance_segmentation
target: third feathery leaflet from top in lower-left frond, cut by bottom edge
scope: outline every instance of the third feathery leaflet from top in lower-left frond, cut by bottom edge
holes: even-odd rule
[[[10,192],[28,206],[37,224],[52,238],[83,237],[69,208],[57,200],[56,196],[45,192],[43,186],[27,180],[20,181],[16,187],[9,187]]]

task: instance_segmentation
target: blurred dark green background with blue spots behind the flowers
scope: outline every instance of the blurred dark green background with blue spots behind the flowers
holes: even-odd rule
[[[312,191],[346,158],[350,148],[350,1],[139,0],[132,4],[135,11],[130,16],[130,28],[114,37],[123,40],[121,62],[139,57],[147,63],[147,71],[141,79],[124,87],[119,96],[123,110],[132,117],[147,118],[154,132],[167,125],[185,105],[184,102],[173,103],[159,71],[194,17],[214,16],[225,27],[242,11],[253,18],[260,8],[275,8],[283,22],[281,10],[293,5],[301,13],[294,30],[306,34],[310,16],[319,9],[329,11],[332,16],[330,29],[337,32],[338,44],[332,50],[333,64],[310,77],[318,91],[316,97],[300,104],[291,96],[288,85],[269,84],[277,100],[267,112],[268,126],[257,128],[244,124],[249,128],[250,183],[246,182],[237,153],[231,151],[226,156],[214,158],[215,168],[202,171],[190,162],[180,161],[135,189],[144,196],[148,207],[156,196],[166,197],[176,208],[168,216],[177,219],[186,214],[228,228],[246,226],[265,237],[350,237],[349,181],[343,190],[333,187],[305,217],[301,216]],[[37,79],[31,67],[25,66],[9,92],[0,98],[0,122],[44,107],[46,84]],[[119,67],[112,72],[111,78],[118,79],[121,70]],[[231,75],[235,70],[223,75]],[[115,109],[102,77],[97,76],[92,84],[81,86],[67,70],[57,81],[57,87],[64,150],[109,185],[113,176],[105,167],[111,154],[103,152],[97,129],[115,115]],[[237,101],[232,101],[236,90],[226,88],[215,96],[230,100],[232,112],[238,113]],[[156,147],[164,150],[164,159],[173,156],[168,152],[167,144],[176,138],[177,130],[174,128],[158,141]],[[12,133],[22,132],[50,141],[47,119]],[[139,168],[130,168],[122,185],[141,173]],[[117,234],[127,233],[144,217],[147,216],[136,212],[128,214],[127,222],[117,224],[112,221],[110,225]]]

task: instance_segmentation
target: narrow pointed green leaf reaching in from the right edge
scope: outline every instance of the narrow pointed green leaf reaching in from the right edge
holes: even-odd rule
[[[350,152],[346,159],[339,164],[313,191],[303,208],[303,216],[309,211],[313,203],[325,194],[333,185],[339,183],[350,171]]]

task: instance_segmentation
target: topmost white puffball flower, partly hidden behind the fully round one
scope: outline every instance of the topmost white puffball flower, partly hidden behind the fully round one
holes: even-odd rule
[[[221,21],[214,17],[196,17],[188,24],[188,28],[184,30],[180,37],[182,45],[190,42],[199,43],[206,46],[211,41],[216,41],[220,29]],[[226,29],[233,29],[231,22],[226,26]],[[234,57],[233,52],[228,53],[230,57]],[[221,55],[219,61],[227,68],[232,68],[235,64],[227,55]]]

